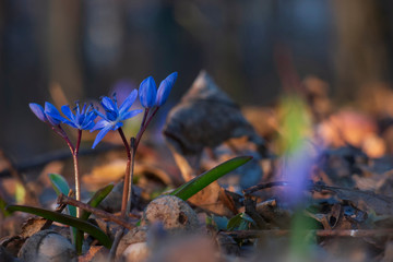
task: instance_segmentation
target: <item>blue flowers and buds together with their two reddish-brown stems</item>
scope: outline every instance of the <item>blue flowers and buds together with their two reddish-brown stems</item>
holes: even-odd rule
[[[66,105],[61,107],[61,116],[59,110],[50,103],[45,103],[45,108],[40,105],[31,103],[29,107],[32,111],[37,116],[37,118],[46,123],[48,123],[51,129],[58,133],[68,144],[73,156],[74,162],[74,172],[75,172],[75,198],[78,201],[81,200],[81,183],[80,183],[80,172],[79,172],[79,160],[78,153],[82,140],[82,131],[90,130],[91,132],[99,130],[94,143],[93,148],[104,139],[104,136],[111,130],[118,130],[119,134],[124,143],[124,147],[128,155],[126,175],[124,175],[124,187],[123,187],[123,196],[121,203],[121,215],[126,215],[130,211],[131,206],[131,190],[132,190],[132,175],[133,175],[133,155],[138,148],[138,144],[142,138],[142,134],[146,130],[152,118],[157,112],[158,108],[165,104],[168,99],[170,90],[172,88],[175,81],[177,79],[177,73],[169,74],[159,85],[158,91],[154,79],[152,76],[147,78],[141,83],[140,86],[140,100],[141,105],[144,107],[144,116],[141,122],[141,129],[136,134],[136,138],[131,138],[131,144],[124,136],[124,133],[121,130],[123,121],[136,116],[143,110],[130,110],[132,104],[138,97],[138,91],[133,90],[126,100],[119,106],[116,94],[112,97],[104,96],[100,99],[104,112],[100,112],[98,109],[93,108],[93,106],[83,105],[82,109],[76,103],[74,112],[71,110],[70,106]],[[150,111],[150,108],[155,107],[155,110]],[[95,122],[95,119],[99,117],[100,120]],[[74,129],[78,129],[78,141],[74,145],[68,138],[66,131],[62,129],[61,123],[66,123]],[[131,165],[132,163],[132,165]],[[80,216],[80,209],[76,209],[76,216]]]

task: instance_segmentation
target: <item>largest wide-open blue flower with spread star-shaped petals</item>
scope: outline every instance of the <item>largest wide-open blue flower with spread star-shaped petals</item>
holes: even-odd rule
[[[141,109],[129,111],[130,107],[135,102],[136,96],[138,92],[136,90],[133,90],[120,107],[118,107],[117,105],[116,94],[114,94],[114,98],[109,98],[107,96],[104,96],[102,98],[102,105],[104,107],[105,115],[94,109],[94,111],[103,119],[99,120],[91,130],[91,132],[95,130],[100,130],[93,143],[93,148],[99,143],[99,141],[104,139],[104,136],[109,132],[109,130],[119,129],[123,126],[122,121],[142,112]]]

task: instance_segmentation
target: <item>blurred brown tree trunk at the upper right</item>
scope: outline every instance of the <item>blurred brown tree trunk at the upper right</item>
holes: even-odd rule
[[[383,23],[374,0],[334,0],[337,99],[348,102],[372,92],[386,73]]]

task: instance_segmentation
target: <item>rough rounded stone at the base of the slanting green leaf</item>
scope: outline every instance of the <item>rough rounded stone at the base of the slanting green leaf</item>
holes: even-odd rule
[[[163,224],[169,233],[191,233],[198,229],[196,213],[181,199],[164,195],[153,200],[143,212],[141,225],[155,222]]]

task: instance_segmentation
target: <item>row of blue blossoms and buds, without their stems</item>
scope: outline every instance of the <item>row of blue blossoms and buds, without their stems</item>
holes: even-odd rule
[[[163,106],[168,99],[177,75],[177,72],[169,74],[162,81],[158,90],[152,76],[142,81],[139,88],[141,105],[146,109]],[[61,112],[66,117],[61,116],[60,111],[48,102],[45,103],[45,108],[35,103],[31,103],[29,108],[39,120],[52,127],[60,127],[61,123],[66,123],[78,130],[90,130],[91,132],[99,130],[93,143],[94,148],[110,130],[119,129],[123,126],[124,120],[142,112],[141,109],[130,110],[136,97],[138,91],[133,90],[126,100],[118,106],[116,94],[111,98],[104,96],[100,99],[100,104],[105,112],[93,108],[92,105],[86,106],[86,104],[81,108],[79,103],[76,103],[73,112],[70,106],[66,105],[61,107]],[[97,116],[100,117],[100,120],[95,122],[94,120]]]

